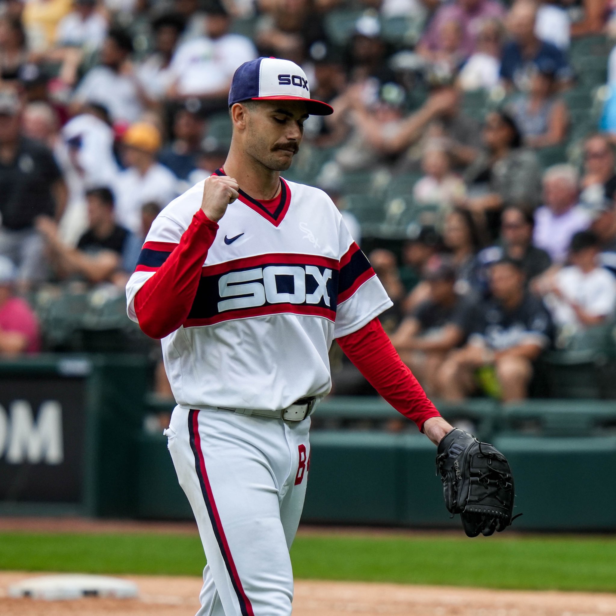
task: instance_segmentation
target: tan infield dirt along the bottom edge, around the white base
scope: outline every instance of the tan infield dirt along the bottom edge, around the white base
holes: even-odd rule
[[[127,576],[140,598],[80,601],[8,599],[10,584],[31,573],[0,573],[2,616],[193,616],[201,580]],[[613,616],[616,594],[492,591],[346,582],[296,583],[294,616]]]

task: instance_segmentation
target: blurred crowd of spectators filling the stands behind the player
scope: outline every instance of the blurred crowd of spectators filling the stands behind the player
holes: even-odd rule
[[[588,71],[571,57],[577,41],[609,46],[613,8],[0,2],[0,355],[54,349],[49,298],[122,296],[153,219],[225,160],[233,72],[274,55],[334,107],[306,122],[288,177],[341,209],[394,300],[383,323],[405,362],[429,395],[523,399],[541,354],[614,318],[616,51]],[[370,224],[392,216],[389,235]],[[331,359],[334,391],[370,391]]]

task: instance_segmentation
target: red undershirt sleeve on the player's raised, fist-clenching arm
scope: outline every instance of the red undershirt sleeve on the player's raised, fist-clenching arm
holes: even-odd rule
[[[150,338],[164,338],[188,317],[201,278],[201,268],[214,243],[218,225],[199,210],[180,243],[135,296],[139,326]]]

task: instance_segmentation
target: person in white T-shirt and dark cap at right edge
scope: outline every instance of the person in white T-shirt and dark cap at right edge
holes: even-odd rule
[[[565,338],[601,325],[616,309],[616,279],[599,265],[601,243],[591,231],[575,233],[569,249],[571,265],[554,275],[546,296],[554,323]]]

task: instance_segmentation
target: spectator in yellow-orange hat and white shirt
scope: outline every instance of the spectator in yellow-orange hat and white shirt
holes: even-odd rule
[[[140,230],[144,203],[164,208],[177,195],[177,177],[156,161],[161,136],[152,124],[137,122],[124,133],[122,159],[126,166],[115,185],[118,222],[134,233]]]

